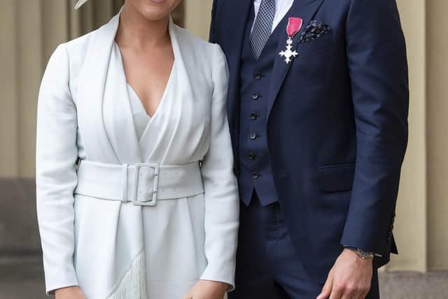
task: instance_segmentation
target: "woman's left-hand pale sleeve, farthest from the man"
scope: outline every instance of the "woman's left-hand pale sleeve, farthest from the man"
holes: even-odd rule
[[[78,285],[73,267],[77,127],[69,57],[61,45],[43,75],[37,109],[36,205],[49,295],[57,288]]]

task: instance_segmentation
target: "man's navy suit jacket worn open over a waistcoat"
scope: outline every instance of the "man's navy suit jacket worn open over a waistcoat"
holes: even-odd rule
[[[238,155],[241,43],[253,0],[215,0],[211,42],[228,58],[228,118]],[[307,270],[325,281],[343,247],[396,252],[392,229],[407,146],[405,39],[395,0],[295,0],[303,19],[286,64],[278,41],[266,134],[279,202]],[[330,32],[299,43],[311,20]],[[239,159],[236,158],[235,161]],[[238,176],[238,165],[235,166]]]

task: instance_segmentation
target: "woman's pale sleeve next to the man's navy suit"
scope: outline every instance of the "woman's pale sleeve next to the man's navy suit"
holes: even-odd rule
[[[217,45],[214,47],[210,147],[201,169],[205,192],[205,254],[208,265],[201,279],[234,286],[239,198],[226,112],[228,67],[221,48]]]

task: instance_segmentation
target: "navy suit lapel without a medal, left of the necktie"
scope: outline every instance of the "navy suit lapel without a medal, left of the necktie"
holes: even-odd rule
[[[228,1],[228,0],[226,0]],[[228,32],[228,43],[232,45],[228,46],[229,53],[228,64],[230,69],[230,88],[228,92],[228,116],[229,123],[233,130],[238,124],[239,118],[237,111],[239,111],[239,72],[241,67],[241,46],[243,44],[244,33],[246,31],[246,23],[248,20],[248,12],[253,5],[253,0],[237,0],[233,1],[233,6],[227,6],[231,8],[231,11],[225,13],[228,16],[228,20],[221,19],[220,22],[230,22],[233,24],[232,32]]]

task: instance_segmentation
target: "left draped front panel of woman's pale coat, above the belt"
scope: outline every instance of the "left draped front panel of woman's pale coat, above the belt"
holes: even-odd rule
[[[92,34],[78,83],[78,126],[88,159],[131,164],[141,155],[123,65],[113,53],[120,13]]]

